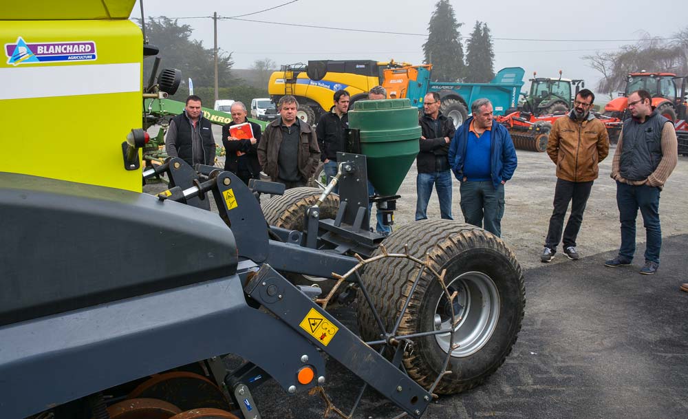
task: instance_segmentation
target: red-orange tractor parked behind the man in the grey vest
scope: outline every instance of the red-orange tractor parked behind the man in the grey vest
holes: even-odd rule
[[[623,97],[616,98],[605,105],[604,114],[623,119],[623,114],[628,107],[628,95],[643,89],[652,95],[652,106],[660,114],[674,122],[677,129],[685,127],[683,121],[686,119],[686,77],[676,76],[673,73],[631,73],[626,79]],[[680,83],[677,83],[678,80],[681,80]]]

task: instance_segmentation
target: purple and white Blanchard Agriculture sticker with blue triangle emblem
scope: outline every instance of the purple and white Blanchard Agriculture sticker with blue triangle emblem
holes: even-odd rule
[[[5,44],[8,64],[59,63],[65,61],[95,61],[94,41],[27,43],[21,36],[15,43]]]

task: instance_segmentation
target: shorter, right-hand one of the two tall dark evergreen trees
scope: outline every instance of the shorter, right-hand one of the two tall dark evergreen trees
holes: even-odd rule
[[[475,22],[471,39],[466,44],[466,81],[487,83],[495,77],[495,52],[487,23]]]

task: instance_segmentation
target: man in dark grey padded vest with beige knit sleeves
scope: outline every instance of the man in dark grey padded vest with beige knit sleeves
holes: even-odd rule
[[[619,255],[605,262],[616,268],[630,265],[636,252],[636,217],[643,215],[647,237],[645,266],[641,274],[652,275],[659,268],[662,228],[659,222],[659,195],[676,167],[678,142],[674,124],[652,108],[652,96],[638,90],[628,96],[631,118],[623,121],[619,144],[612,160],[616,180],[616,205],[621,222]]]

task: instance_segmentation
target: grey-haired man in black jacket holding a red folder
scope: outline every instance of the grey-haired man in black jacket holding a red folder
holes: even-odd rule
[[[260,142],[260,125],[246,119],[248,112],[246,105],[235,102],[230,108],[232,122],[222,127],[222,144],[225,149],[224,169],[237,175],[248,185],[250,179],[260,179],[260,164],[258,163],[258,143]],[[248,122],[253,136],[251,138],[236,138],[230,134],[230,127]]]

